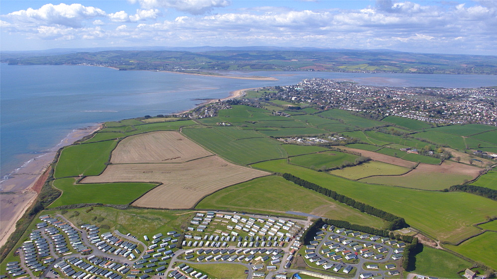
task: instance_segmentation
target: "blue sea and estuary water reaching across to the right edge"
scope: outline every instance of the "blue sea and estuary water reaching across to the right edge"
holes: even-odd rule
[[[0,174],[2,180],[53,149],[75,129],[105,121],[171,114],[243,88],[290,85],[305,78],[351,80],[374,86],[473,88],[496,86],[497,75],[342,72],[223,72],[272,76],[249,80],[90,66],[0,64]]]

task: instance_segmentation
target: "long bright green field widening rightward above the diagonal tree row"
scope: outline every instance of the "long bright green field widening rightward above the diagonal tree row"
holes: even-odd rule
[[[497,215],[497,202],[464,192],[432,192],[364,183],[273,160],[252,166],[291,173],[329,188],[356,201],[398,216],[428,235],[440,240],[457,241],[477,233],[472,226]],[[374,197],[374,198],[373,198]]]

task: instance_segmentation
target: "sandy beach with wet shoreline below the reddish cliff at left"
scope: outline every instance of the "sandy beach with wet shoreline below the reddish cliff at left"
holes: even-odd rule
[[[54,160],[57,150],[98,131],[100,127],[101,125],[98,124],[74,130],[55,147],[27,161],[12,172],[7,180],[1,182],[0,246],[5,244],[8,236],[15,230],[17,220],[34,202],[46,180],[43,174]]]

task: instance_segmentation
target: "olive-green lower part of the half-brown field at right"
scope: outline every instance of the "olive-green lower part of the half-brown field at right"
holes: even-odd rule
[[[416,173],[409,176],[377,176],[361,179],[361,182],[401,186],[423,190],[443,190],[452,185],[471,180],[471,175],[446,173]]]

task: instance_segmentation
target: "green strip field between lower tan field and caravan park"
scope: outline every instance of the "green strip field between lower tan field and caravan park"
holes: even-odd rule
[[[74,178],[56,179],[55,188],[62,190],[62,196],[50,207],[56,208],[75,204],[127,205],[147,193],[156,184],[150,183],[104,183],[74,184]]]

